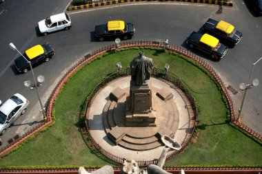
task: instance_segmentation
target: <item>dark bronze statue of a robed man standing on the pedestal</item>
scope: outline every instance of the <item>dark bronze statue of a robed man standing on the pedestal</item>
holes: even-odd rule
[[[139,52],[139,56],[133,59],[130,63],[131,80],[133,85],[146,85],[146,80],[150,79],[150,74],[153,68],[152,58],[143,55],[143,51]]]

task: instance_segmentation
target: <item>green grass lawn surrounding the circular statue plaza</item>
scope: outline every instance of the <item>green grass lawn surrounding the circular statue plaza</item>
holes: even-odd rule
[[[216,84],[199,69],[179,56],[159,50],[143,49],[153,58],[154,67],[176,74],[190,87],[201,110],[199,135],[188,150],[166,162],[175,165],[261,165],[261,144],[228,123],[228,110]],[[94,155],[83,141],[79,127],[81,105],[101,78],[115,71],[115,64],[128,67],[139,50],[108,54],[85,65],[66,83],[54,104],[55,124],[20,149],[0,159],[0,166],[103,166],[108,160]]]

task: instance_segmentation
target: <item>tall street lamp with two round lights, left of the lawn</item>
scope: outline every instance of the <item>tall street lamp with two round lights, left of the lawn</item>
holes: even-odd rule
[[[19,50],[17,50],[17,47],[15,47],[14,43],[9,43],[9,47],[12,49],[12,50],[16,50],[17,52],[19,52]],[[19,52],[19,54],[21,54],[21,52]],[[47,117],[46,117],[46,114],[45,114],[45,109],[43,108],[43,105],[42,105],[42,102],[41,102],[41,99],[40,99],[40,95],[39,95],[39,91],[38,91],[38,87],[39,85],[41,84],[41,82],[43,82],[45,80],[45,78],[43,76],[38,76],[37,77],[37,80],[39,81],[39,83],[37,83],[37,80],[35,80],[35,76],[34,76],[34,71],[32,69],[32,64],[30,61],[28,61],[28,59],[25,58],[25,56],[23,56],[23,54],[21,54],[21,56],[29,63],[30,65],[30,69],[31,69],[31,72],[32,72],[32,76],[34,78],[34,85],[31,86],[31,89],[37,89],[37,96],[38,96],[38,99],[39,99],[39,102],[40,102],[40,106],[41,106],[41,113],[43,114],[43,120],[47,121]],[[29,87],[31,85],[31,82],[30,80],[26,80],[24,83],[23,83],[26,87]],[[39,85],[37,85],[39,84]]]

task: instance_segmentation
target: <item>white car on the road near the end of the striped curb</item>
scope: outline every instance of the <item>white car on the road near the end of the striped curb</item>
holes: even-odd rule
[[[38,28],[41,34],[45,36],[50,32],[69,30],[71,26],[71,19],[65,12],[54,14],[38,23]]]

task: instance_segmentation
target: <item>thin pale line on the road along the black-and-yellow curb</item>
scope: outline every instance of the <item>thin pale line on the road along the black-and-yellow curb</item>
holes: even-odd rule
[[[109,9],[109,8],[119,8],[119,7],[123,7],[123,6],[139,6],[139,5],[179,5],[179,6],[200,6],[200,7],[204,7],[207,5],[203,5],[201,3],[174,3],[174,2],[155,2],[155,3],[127,3],[127,4],[119,4],[119,5],[114,5],[114,6],[100,6],[99,8],[85,8],[85,10],[81,10],[81,11],[70,11],[68,12],[68,14],[78,14],[78,13],[82,13],[82,12],[92,12],[94,10],[104,10],[104,9]],[[216,7],[217,5],[211,5]]]

